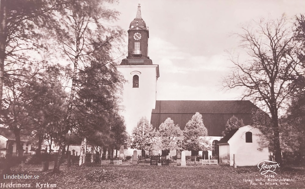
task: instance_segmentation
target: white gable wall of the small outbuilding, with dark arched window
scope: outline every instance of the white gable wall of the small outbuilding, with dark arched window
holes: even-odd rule
[[[246,132],[252,132],[252,142],[246,142]],[[233,166],[233,154],[237,166],[257,166],[263,160],[269,159],[268,148],[259,150],[260,137],[259,129],[250,125],[239,128],[238,131],[228,140],[230,144],[230,165]]]

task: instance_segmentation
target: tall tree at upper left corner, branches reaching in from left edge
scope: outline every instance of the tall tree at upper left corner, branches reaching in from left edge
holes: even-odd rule
[[[1,0],[0,2],[0,110],[4,79],[15,75],[29,58],[24,53],[40,46],[38,28],[51,17],[59,0]],[[5,62],[6,61],[6,62]]]

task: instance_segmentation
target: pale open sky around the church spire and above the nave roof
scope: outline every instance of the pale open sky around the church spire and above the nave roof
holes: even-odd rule
[[[127,30],[139,0],[120,0],[118,26]],[[149,27],[149,58],[158,64],[157,100],[240,100],[242,89],[223,89],[239,53],[241,27],[261,18],[278,19],[304,13],[300,0],[141,0]],[[121,59],[127,56],[127,35]],[[120,61],[118,62],[120,63]]]

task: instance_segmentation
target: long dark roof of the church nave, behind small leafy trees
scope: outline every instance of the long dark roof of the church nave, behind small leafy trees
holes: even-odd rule
[[[192,116],[199,112],[209,136],[221,136],[225,124],[233,115],[242,119],[245,125],[251,124],[253,109],[258,107],[249,100],[157,100],[156,108],[152,109],[151,123],[158,129],[160,124],[170,117],[184,129]]]

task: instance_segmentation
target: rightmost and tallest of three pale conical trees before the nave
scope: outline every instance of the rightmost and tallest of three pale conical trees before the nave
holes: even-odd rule
[[[183,149],[199,151],[209,150],[211,145],[209,142],[208,130],[203,124],[202,115],[196,112],[189,120],[183,130]]]

